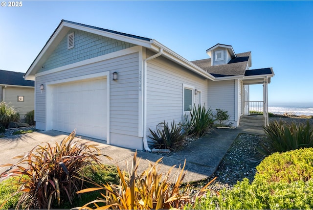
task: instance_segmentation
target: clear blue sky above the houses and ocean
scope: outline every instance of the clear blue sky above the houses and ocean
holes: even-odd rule
[[[5,1],[8,3],[8,1]],[[217,43],[272,67],[269,104],[313,107],[313,1],[29,1],[0,6],[0,69],[26,72],[62,19],[155,39],[193,61]],[[262,100],[262,86],[250,100]]]

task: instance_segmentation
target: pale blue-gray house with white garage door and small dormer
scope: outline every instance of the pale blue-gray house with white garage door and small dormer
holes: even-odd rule
[[[251,53],[231,46],[207,53],[190,62],[154,39],[62,20],[24,74],[35,81],[36,127],[149,150],[149,128],[181,121],[193,104],[239,125],[245,85],[267,87],[274,74],[248,70]]]

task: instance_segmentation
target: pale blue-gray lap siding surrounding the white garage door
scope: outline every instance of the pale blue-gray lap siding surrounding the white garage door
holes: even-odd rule
[[[45,91],[40,84],[110,71],[110,131],[138,136],[138,53],[36,77],[36,120],[45,123]],[[112,81],[112,72],[118,80]]]

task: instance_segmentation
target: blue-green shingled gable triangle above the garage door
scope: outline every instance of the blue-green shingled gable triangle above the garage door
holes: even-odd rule
[[[55,69],[135,46],[131,43],[122,42],[77,29],[71,29],[67,34],[70,33],[74,33],[74,47],[67,49],[66,35],[47,58],[43,68],[38,72]]]

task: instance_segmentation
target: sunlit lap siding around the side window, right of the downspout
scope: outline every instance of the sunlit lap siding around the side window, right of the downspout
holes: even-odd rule
[[[150,55],[149,55],[150,56]],[[202,103],[207,99],[206,79],[164,58],[147,64],[147,135],[160,122],[182,120],[183,84],[202,91]]]

